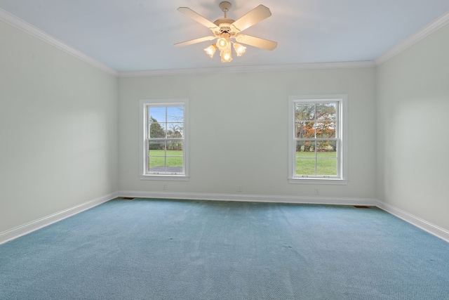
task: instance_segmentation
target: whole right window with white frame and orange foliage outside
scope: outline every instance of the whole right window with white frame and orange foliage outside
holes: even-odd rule
[[[289,97],[290,183],[347,183],[346,103],[346,95]]]

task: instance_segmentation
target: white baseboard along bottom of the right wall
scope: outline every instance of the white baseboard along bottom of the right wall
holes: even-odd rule
[[[379,207],[380,209],[383,209],[384,211],[387,211],[389,214],[392,214],[400,219],[403,219],[404,221],[416,226],[417,228],[421,228],[422,230],[427,231],[431,235],[435,235],[436,237],[439,237],[442,240],[449,242],[449,231],[445,230],[444,228],[441,228],[428,221],[420,219],[417,216],[413,216],[413,214],[409,214],[407,211],[398,209],[397,207],[394,207],[393,205],[387,204],[380,200],[377,200],[376,206]]]

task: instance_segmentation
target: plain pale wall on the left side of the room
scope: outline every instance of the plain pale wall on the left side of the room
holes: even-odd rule
[[[117,86],[0,21],[0,233],[116,192]]]

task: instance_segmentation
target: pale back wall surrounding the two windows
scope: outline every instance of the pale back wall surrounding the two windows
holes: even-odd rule
[[[288,96],[326,93],[348,94],[349,183],[289,184]],[[121,78],[120,190],[163,191],[138,177],[139,100],[189,98],[190,180],[166,192],[375,198],[374,97],[374,68]]]

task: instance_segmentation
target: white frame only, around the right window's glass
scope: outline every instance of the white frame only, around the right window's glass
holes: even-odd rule
[[[296,175],[295,103],[338,103],[337,176],[335,178]],[[347,95],[302,95],[288,97],[288,183],[347,184]]]

